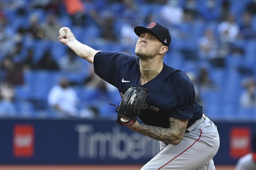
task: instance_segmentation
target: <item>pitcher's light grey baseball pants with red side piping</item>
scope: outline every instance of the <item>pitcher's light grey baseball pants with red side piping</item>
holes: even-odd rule
[[[209,118],[198,119],[187,128],[178,145],[160,142],[160,152],[141,170],[215,170],[213,156],[219,149],[217,127]]]

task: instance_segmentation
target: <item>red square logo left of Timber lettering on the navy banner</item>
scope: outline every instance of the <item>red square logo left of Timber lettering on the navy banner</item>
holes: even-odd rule
[[[15,125],[13,128],[13,154],[15,157],[34,155],[34,126]]]

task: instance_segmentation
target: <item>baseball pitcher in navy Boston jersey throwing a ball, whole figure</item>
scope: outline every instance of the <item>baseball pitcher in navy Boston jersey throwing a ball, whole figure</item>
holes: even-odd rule
[[[157,22],[135,27],[136,55],[97,51],[78,42],[69,28],[64,30],[59,41],[118,88],[122,101],[116,106],[117,123],[160,142],[159,154],[141,170],[215,169],[217,127],[194,101],[195,90],[186,74],[163,62],[171,42],[166,27]]]

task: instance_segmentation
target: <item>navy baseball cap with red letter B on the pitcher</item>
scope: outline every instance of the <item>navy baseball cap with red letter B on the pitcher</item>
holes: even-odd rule
[[[146,27],[137,26],[134,28],[134,32],[136,35],[141,36],[143,31],[149,31],[155,34],[163,43],[163,45],[169,47],[171,43],[171,35],[169,33],[168,28],[162,26],[158,22],[152,22],[148,24]]]

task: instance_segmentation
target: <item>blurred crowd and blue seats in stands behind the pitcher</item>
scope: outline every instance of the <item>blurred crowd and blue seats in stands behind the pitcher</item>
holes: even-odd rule
[[[256,120],[255,0],[0,0],[0,117],[113,118],[121,100],[58,42],[134,54],[133,28],[169,28],[164,62],[185,72],[211,119]]]

